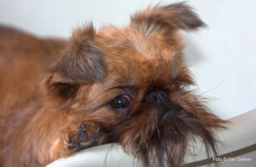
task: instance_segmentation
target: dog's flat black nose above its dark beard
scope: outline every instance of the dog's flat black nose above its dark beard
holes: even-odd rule
[[[167,105],[169,101],[168,94],[163,90],[153,90],[145,96],[145,102],[156,102]]]

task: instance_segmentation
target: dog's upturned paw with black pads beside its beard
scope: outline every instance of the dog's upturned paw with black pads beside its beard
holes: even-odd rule
[[[88,147],[107,143],[107,135],[97,123],[81,123],[75,131],[69,132],[66,139],[66,146],[69,151],[80,151]]]

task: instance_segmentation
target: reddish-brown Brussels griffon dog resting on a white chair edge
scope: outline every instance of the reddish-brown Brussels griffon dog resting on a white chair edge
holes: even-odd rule
[[[92,24],[69,42],[0,28],[0,166],[44,166],[118,142],[144,167],[178,167],[200,138],[216,154],[225,121],[189,90],[179,30],[204,27],[184,3],[148,7],[127,27]]]

